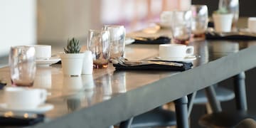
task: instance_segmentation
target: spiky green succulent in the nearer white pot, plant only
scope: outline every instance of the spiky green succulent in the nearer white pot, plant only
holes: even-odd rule
[[[66,48],[64,48],[65,53],[79,53],[80,52],[80,44],[79,40],[76,38],[68,39],[68,44]]]

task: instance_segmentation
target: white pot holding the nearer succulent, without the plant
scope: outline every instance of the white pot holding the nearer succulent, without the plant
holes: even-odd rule
[[[63,75],[81,75],[84,53],[60,55]]]

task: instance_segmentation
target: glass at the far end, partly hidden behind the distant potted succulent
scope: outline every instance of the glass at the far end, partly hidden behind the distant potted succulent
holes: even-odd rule
[[[220,0],[218,4],[219,9],[227,9],[229,13],[233,14],[232,28],[237,27],[239,18],[239,1],[238,0]]]

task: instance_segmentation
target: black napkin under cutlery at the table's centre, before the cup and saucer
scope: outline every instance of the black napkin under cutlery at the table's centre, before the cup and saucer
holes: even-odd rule
[[[116,70],[173,70],[173,71],[183,71],[189,70],[192,68],[192,63],[184,62],[175,62],[182,63],[183,66],[174,66],[174,65],[157,65],[157,64],[148,64],[148,65],[135,65],[135,66],[124,66],[118,64],[113,64]]]

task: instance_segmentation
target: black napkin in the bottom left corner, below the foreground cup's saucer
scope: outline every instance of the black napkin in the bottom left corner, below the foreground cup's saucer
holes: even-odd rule
[[[38,117],[28,118],[28,119],[15,118],[15,117],[0,117],[0,127],[1,126],[25,127],[25,126],[36,124],[38,122],[43,122],[43,119],[44,119],[43,114],[38,114]]]

